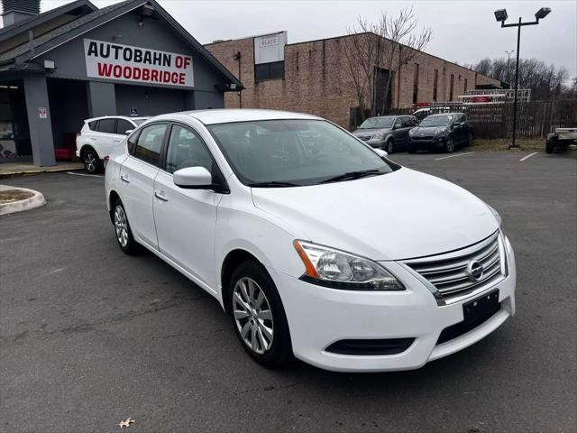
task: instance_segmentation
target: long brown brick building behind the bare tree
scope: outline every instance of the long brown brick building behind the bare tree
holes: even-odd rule
[[[305,112],[348,128],[358,103],[343,50],[344,39],[355,37],[362,35],[287,43],[287,32],[277,32],[215,41],[205,47],[243,83],[242,92],[225,96],[226,107]],[[399,44],[395,44],[394,50],[399,47],[410,50]],[[388,108],[457,102],[465,90],[499,88],[501,84],[497,79],[423,51],[411,57],[399,74],[393,71],[389,95],[377,96],[388,97]]]

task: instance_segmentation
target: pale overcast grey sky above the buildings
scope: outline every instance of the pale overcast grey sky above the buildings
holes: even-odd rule
[[[98,7],[115,1],[92,0]],[[418,24],[429,27],[433,39],[426,52],[460,64],[482,58],[507,57],[516,50],[517,28],[501,29],[493,12],[507,9],[508,23],[534,21],[541,7],[552,12],[539,25],[521,29],[521,58],[537,58],[557,67],[564,66],[577,77],[577,1],[206,1],[157,0],[197,41],[236,39],[267,32],[288,31],[289,43],[330,38],[346,34],[361,16],[376,21],[380,11],[397,14],[413,6]],[[42,12],[69,3],[41,0]],[[515,53],[513,54],[515,55]]]

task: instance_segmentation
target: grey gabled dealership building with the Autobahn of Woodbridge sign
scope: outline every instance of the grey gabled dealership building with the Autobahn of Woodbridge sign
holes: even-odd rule
[[[0,162],[53,165],[86,118],[220,108],[242,88],[154,0],[78,0],[44,14],[4,1]]]

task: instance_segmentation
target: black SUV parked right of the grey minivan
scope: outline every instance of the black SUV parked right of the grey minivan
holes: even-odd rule
[[[472,144],[472,127],[464,113],[428,115],[408,133],[409,153],[441,149],[454,152],[457,146]]]

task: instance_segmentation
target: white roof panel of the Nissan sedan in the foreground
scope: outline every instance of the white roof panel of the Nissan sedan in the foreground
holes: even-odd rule
[[[285,120],[285,119],[308,119],[319,120],[316,115],[304,113],[291,113],[278,110],[257,110],[251,108],[223,108],[213,110],[196,110],[174,113],[173,115],[189,115],[203,124],[228,124],[233,122],[250,122],[256,120]],[[158,119],[170,115],[160,115]]]

